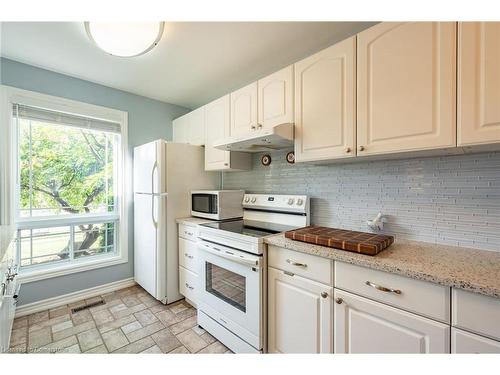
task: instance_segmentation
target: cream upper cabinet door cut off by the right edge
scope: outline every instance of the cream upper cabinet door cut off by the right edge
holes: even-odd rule
[[[458,145],[500,142],[500,22],[461,22]]]

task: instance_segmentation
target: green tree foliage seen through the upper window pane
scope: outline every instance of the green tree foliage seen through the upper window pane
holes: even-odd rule
[[[30,129],[30,122],[21,120],[21,208],[29,209],[31,195],[32,207],[48,208],[49,214],[108,211],[113,196],[110,138],[104,133],[39,122],[31,122]]]

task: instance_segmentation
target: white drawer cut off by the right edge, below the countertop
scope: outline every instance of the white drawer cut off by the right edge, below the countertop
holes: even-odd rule
[[[500,299],[453,289],[452,325],[500,340]]]

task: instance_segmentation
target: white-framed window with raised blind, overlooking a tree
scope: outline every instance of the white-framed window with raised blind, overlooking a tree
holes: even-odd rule
[[[124,255],[122,124],[18,103],[12,114],[21,276]]]

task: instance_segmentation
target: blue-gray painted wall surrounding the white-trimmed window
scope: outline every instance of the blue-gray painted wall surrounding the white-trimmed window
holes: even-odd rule
[[[115,90],[106,86],[2,58],[1,83],[85,103],[128,112],[130,152],[133,147],[158,139],[172,139],[172,120],[189,110],[184,107]],[[20,305],[133,276],[133,215],[129,216],[129,262],[69,276],[24,284]]]

